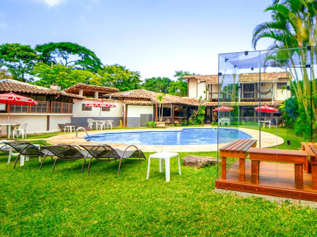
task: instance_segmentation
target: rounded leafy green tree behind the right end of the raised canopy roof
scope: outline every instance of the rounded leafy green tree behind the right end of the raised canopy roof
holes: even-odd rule
[[[97,72],[90,84],[118,88],[120,91],[140,88],[141,76],[139,71],[131,71],[119,64],[105,65]]]

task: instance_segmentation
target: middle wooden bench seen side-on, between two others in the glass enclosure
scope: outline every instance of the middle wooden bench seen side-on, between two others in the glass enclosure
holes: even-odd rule
[[[260,161],[293,163],[295,171],[295,188],[304,189],[303,164],[307,158],[305,151],[268,149],[268,148],[249,148],[251,160],[251,183],[259,183]]]

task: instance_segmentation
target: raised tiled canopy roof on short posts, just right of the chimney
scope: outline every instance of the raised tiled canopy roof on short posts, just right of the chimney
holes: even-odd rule
[[[105,87],[105,86],[94,86],[94,85],[88,85],[83,83],[77,83],[74,86],[68,87],[64,89],[63,91],[72,93],[72,94],[79,94],[79,90],[83,90],[84,96],[94,96],[94,91],[98,91],[99,95],[118,92],[119,89],[112,88],[112,87]]]

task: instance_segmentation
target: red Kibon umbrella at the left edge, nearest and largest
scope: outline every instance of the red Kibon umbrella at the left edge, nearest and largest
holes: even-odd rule
[[[37,102],[31,98],[24,97],[15,93],[0,94],[0,104],[8,106],[8,123],[10,120],[10,105],[37,105]]]

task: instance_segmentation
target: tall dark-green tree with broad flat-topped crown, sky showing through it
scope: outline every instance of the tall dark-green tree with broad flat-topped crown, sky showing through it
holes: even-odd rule
[[[73,69],[84,69],[97,72],[100,69],[101,61],[94,52],[84,46],[71,42],[47,43],[37,45],[37,52],[40,52],[43,63],[51,65],[60,63],[65,66],[73,66]]]

